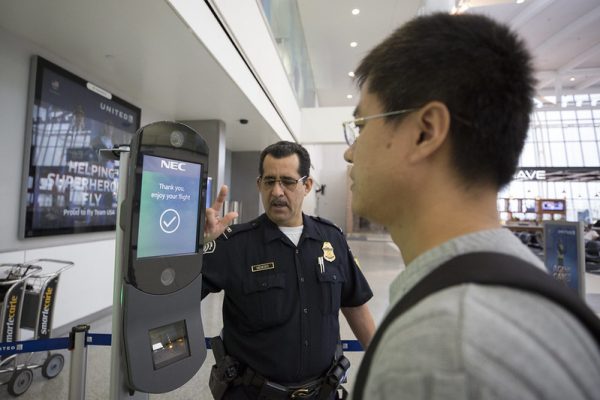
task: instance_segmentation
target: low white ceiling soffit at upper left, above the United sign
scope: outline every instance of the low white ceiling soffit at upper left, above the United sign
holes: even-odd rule
[[[2,29],[16,49],[33,42],[50,61],[142,107],[142,122],[152,121],[145,111],[153,120],[220,119],[233,151],[278,139],[165,0],[0,0]]]

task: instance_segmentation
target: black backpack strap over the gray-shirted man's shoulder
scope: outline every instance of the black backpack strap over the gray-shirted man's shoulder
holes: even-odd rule
[[[570,288],[520,258],[492,252],[468,253],[440,265],[392,307],[377,328],[361,361],[353,399],[363,399],[373,355],[388,326],[430,294],[465,283],[506,286],[545,297],[577,318],[587,328],[600,350],[600,319]]]

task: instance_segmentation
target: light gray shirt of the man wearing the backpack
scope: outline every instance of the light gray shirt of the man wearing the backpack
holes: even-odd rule
[[[464,235],[413,260],[390,304],[461,254],[542,262],[506,229]],[[587,330],[538,295],[500,286],[437,292],[392,323],[376,350],[366,399],[600,399],[600,355]]]

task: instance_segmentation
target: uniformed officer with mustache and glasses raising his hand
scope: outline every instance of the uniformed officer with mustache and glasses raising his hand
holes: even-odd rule
[[[339,311],[364,347],[371,340],[372,292],[343,233],[302,212],[313,185],[309,168],[299,144],[265,148],[257,178],[265,213],[205,246],[202,297],[225,292],[227,356],[215,352],[215,398],[337,398],[349,366],[339,346]],[[225,196],[222,190],[207,212],[208,239],[226,225],[216,218]]]

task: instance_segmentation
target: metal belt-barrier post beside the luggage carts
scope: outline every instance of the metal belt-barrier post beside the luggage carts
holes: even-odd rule
[[[86,337],[89,325],[77,325],[71,330],[71,367],[69,372],[69,400],[84,400],[87,369]]]

